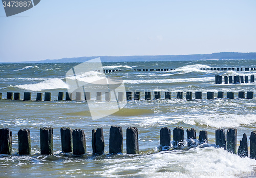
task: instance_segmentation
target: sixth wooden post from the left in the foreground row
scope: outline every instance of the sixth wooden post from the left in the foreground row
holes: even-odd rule
[[[97,128],[97,130],[92,130],[92,148],[93,154],[103,154],[104,153],[104,136],[103,136],[103,128]]]

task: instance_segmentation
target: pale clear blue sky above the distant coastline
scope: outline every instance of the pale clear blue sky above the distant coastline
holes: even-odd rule
[[[256,52],[255,9],[255,0],[41,0],[6,17],[0,6],[0,62]]]

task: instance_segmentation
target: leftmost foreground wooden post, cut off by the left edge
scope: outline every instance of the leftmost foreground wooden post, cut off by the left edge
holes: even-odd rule
[[[12,131],[9,128],[0,129],[0,154],[12,154]]]

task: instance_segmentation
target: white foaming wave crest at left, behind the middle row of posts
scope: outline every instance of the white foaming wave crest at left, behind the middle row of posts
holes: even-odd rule
[[[39,83],[15,85],[14,87],[35,92],[44,90],[54,90],[57,88],[69,88],[69,85],[63,82],[61,79],[54,78]]]

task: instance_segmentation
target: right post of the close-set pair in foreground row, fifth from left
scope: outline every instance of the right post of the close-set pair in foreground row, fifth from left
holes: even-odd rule
[[[72,132],[73,137],[73,154],[81,155],[86,153],[86,135],[83,130],[74,129]]]

